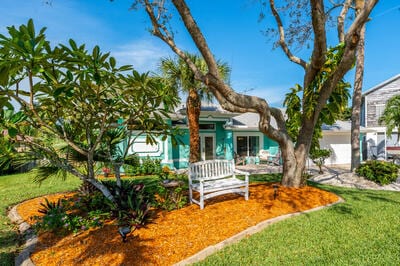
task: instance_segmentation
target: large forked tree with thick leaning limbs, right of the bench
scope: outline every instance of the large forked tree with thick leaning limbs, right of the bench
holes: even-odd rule
[[[334,1],[309,0],[301,1],[304,5],[298,4],[298,1],[282,1],[291,4],[290,9],[280,9],[274,0],[262,1],[268,6],[270,13],[276,22],[276,31],[278,32],[278,45],[286,54],[287,58],[297,64],[304,70],[304,79],[301,85],[304,89],[310,88],[318,75],[324,71],[327,61],[328,52],[328,10],[335,6]],[[371,13],[378,0],[366,0],[363,8],[358,12],[357,16],[349,21],[349,26],[345,29],[342,23],[338,27],[340,40],[333,47],[342,43],[341,57],[338,58],[337,64],[331,69],[326,80],[318,87],[315,97],[312,98],[313,108],[304,109],[301,112],[300,127],[297,133],[296,142],[288,134],[285,124],[285,117],[278,108],[273,108],[268,104],[268,99],[261,99],[256,96],[250,96],[238,93],[237,90],[231,88],[229,84],[223,81],[218,73],[217,61],[209,47],[206,38],[200,27],[192,16],[189,6],[184,0],[137,0],[135,7],[142,7],[147,13],[152,25],[151,32],[154,36],[164,41],[177,55],[179,55],[192,69],[197,80],[203,82],[209,90],[214,94],[215,98],[221,106],[232,112],[252,112],[260,116],[259,129],[269,138],[279,143],[283,158],[283,178],[282,185],[289,187],[299,187],[304,183],[303,172],[306,166],[306,159],[312,142],[312,136],[317,126],[318,118],[321,111],[326,106],[332,92],[337,88],[339,82],[342,81],[344,75],[353,67],[356,49],[360,40],[360,32],[368,16]],[[172,5],[170,5],[172,4]],[[172,11],[171,11],[172,10]],[[310,19],[309,34],[313,37],[311,48],[311,57],[304,60],[296,56],[291,49],[291,43],[287,42],[286,31],[282,12],[303,13],[304,17]],[[338,14],[338,19],[343,19],[346,15],[342,11]],[[295,13],[286,13],[287,16]],[[204,58],[208,72],[203,73],[196,64],[183,52],[179,43],[176,43],[174,34],[170,31],[174,14],[178,14],[184,27],[190,34],[193,43]],[[290,28],[290,27],[289,27]],[[238,33],[240,34],[240,33]],[[229,46],[228,46],[229,47]],[[302,101],[306,102],[307,94],[303,94]],[[277,126],[271,124],[272,119],[276,120]]]

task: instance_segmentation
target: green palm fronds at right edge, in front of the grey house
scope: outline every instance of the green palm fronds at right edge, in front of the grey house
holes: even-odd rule
[[[400,141],[400,95],[393,96],[387,103],[379,123],[384,123],[387,128],[387,134],[392,135],[392,131],[397,127],[397,143]]]

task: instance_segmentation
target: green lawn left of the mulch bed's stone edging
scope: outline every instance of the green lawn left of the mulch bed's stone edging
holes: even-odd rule
[[[14,265],[18,235],[7,217],[7,207],[26,199],[61,191],[74,190],[80,181],[69,176],[65,181],[48,179],[39,186],[30,173],[0,176],[0,265]]]

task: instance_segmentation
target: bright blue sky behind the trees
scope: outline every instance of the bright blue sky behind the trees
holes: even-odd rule
[[[33,18],[37,29],[47,27],[53,45],[72,38],[88,48],[99,45],[121,64],[139,71],[154,71],[170,49],[151,36],[143,12],[129,10],[132,0],[1,0],[0,33]],[[205,4],[205,3],[210,4]],[[302,83],[303,69],[272,49],[261,31],[273,21],[258,22],[259,6],[254,0],[188,1],[191,11],[218,59],[232,68],[231,85],[238,92],[265,98],[281,106],[285,93]],[[400,73],[400,1],[381,0],[367,25],[364,91]],[[176,28],[178,44],[194,51],[182,27]],[[308,51],[297,53],[307,60]],[[354,73],[347,76],[353,83]]]

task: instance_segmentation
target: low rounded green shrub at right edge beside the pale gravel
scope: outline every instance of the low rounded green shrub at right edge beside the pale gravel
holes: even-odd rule
[[[356,173],[380,185],[390,184],[398,178],[399,166],[385,161],[367,161],[356,169]]]

